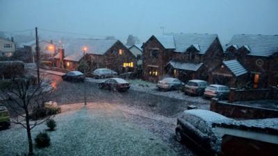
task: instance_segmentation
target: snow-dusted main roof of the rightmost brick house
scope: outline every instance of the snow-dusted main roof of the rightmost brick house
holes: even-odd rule
[[[238,34],[231,38],[225,50],[231,45],[236,45],[238,48],[245,46],[250,49],[247,55],[265,56],[268,57],[273,53],[278,52],[278,35],[246,35]]]

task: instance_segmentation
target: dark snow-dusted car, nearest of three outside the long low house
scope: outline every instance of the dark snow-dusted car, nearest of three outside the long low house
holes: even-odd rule
[[[101,89],[111,89],[113,91],[124,92],[130,87],[129,83],[122,78],[108,78],[99,83]]]

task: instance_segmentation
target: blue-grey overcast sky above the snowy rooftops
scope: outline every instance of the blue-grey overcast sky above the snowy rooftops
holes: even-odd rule
[[[278,34],[277,0],[0,0],[0,31],[34,28],[144,42],[165,33]],[[40,33],[40,32],[39,32]],[[47,33],[44,31],[44,33]]]

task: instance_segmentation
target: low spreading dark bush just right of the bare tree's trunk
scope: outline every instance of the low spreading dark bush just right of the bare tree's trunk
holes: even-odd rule
[[[30,117],[33,120],[42,119],[46,116],[54,115],[60,113],[60,107],[38,107],[34,109]]]

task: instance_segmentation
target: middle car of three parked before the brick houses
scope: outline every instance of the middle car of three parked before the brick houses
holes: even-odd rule
[[[184,87],[184,92],[190,95],[202,96],[208,82],[205,80],[189,80]]]

